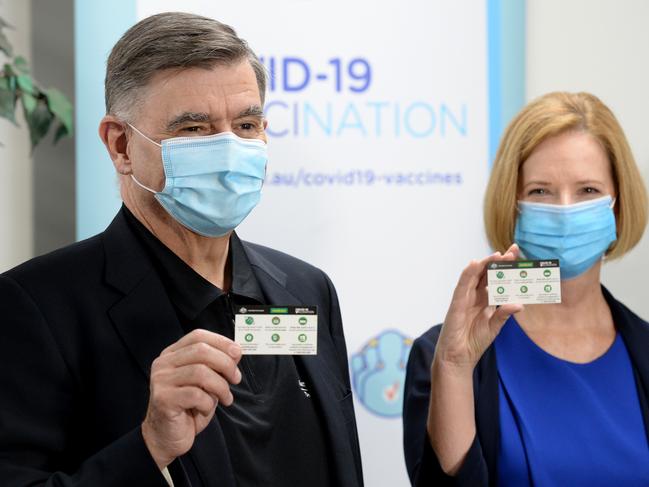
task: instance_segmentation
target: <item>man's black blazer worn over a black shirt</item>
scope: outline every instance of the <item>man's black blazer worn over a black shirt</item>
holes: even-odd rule
[[[318,355],[298,360],[323,416],[337,485],[362,486],[334,287],[300,260],[244,248],[269,304],[318,306]],[[151,363],[183,330],[124,216],[0,275],[0,317],[0,485],[167,487],[140,425]],[[203,486],[235,487],[230,453],[212,421],[183,459]]]

